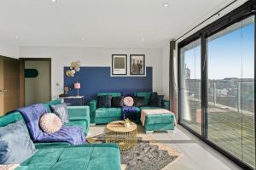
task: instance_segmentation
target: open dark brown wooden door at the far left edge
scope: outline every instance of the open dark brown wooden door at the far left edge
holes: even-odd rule
[[[0,58],[0,104],[3,105],[0,114],[4,115],[20,106],[20,70],[19,59]]]

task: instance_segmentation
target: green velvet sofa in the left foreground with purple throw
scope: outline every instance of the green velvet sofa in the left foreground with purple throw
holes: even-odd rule
[[[60,100],[53,100],[49,105],[59,104]],[[90,114],[88,106],[69,106],[70,122],[68,125],[79,125],[88,133]],[[13,111],[0,116],[0,127],[22,120],[20,112]],[[28,133],[28,131],[27,131]],[[28,133],[29,134],[29,133]],[[22,162],[15,170],[120,170],[120,152],[118,144],[81,144],[69,145],[65,142],[34,143],[37,152]]]

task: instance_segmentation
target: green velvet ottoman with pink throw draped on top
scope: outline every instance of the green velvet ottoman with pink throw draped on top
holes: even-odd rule
[[[142,111],[141,122],[146,133],[154,131],[171,133],[176,125],[176,118],[171,111],[165,109],[148,109]]]

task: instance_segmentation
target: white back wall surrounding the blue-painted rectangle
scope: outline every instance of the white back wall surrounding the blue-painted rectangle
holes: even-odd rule
[[[162,48],[20,47],[20,58],[52,58],[52,98],[63,93],[63,66],[79,60],[81,66],[111,66],[112,54],[145,54],[153,67],[153,90],[162,94]],[[128,60],[129,61],[129,60]],[[130,63],[128,63],[129,68]],[[59,85],[57,85],[59,83]]]

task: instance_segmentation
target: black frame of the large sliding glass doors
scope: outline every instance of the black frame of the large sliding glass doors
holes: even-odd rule
[[[182,42],[177,44],[177,83],[178,83],[178,111],[181,111],[182,108],[182,101],[180,96],[182,95],[181,90],[181,48],[193,42],[197,39],[201,39],[201,134],[196,133],[193,129],[186,126],[182,122],[182,116],[178,112],[178,123],[189,130],[190,133],[195,134],[199,139],[203,140],[205,143],[209,144],[215,150],[218,150],[224,156],[228,157],[231,161],[234,161],[237,165],[244,169],[253,169],[253,167],[247,165],[244,161],[239,160],[235,156],[232,156],[229,152],[219,147],[217,144],[214,144],[212,141],[207,139],[208,136],[208,123],[207,123],[207,37],[212,36],[213,34],[217,33],[218,31],[224,30],[226,27],[235,24],[241,20],[247,19],[250,16],[254,15],[254,24],[256,25],[256,2],[253,0],[247,1],[240,7],[234,9],[229,14],[225,14],[220,19],[214,21],[212,24],[202,28],[200,31],[195,32],[190,37],[187,37]],[[255,84],[255,77],[256,77],[256,26],[254,26],[254,84]],[[254,111],[256,111],[255,105],[255,97],[256,97],[256,86],[254,86]],[[256,114],[254,113],[254,121],[256,121]],[[254,122],[254,141],[256,136],[256,123]],[[256,142],[254,142],[256,144]],[[255,145],[256,148],[256,145]],[[256,156],[255,156],[256,159]],[[256,160],[255,160],[256,161]]]

